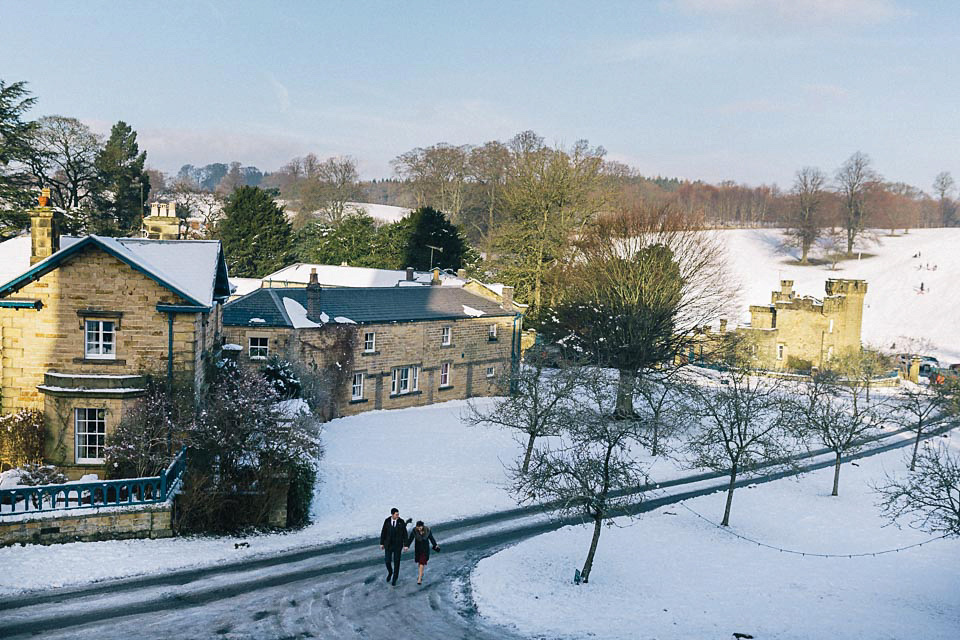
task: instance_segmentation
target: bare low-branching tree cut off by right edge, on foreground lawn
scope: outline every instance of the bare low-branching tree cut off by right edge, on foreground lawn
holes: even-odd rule
[[[875,489],[890,522],[909,517],[915,529],[960,536],[960,457],[947,445],[925,446],[906,478],[887,475]]]

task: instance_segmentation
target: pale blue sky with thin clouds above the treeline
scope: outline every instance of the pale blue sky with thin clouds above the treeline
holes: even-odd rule
[[[350,155],[534,130],[645,175],[789,187],[855,151],[960,177],[960,3],[15,2],[0,79],[31,116],[136,129],[149,166]]]

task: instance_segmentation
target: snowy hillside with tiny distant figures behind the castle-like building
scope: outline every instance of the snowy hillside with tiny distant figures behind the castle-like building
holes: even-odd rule
[[[917,229],[890,237],[878,232],[876,242],[864,240],[856,249],[873,254],[861,260],[829,265],[790,264],[799,257],[779,249],[783,232],[775,229],[724,231],[734,275],[742,285],[740,321],[748,321],[751,304],[768,304],[779,281],[793,280],[799,295],[822,298],[827,278],[867,281],[863,311],[864,344],[886,350],[903,349],[904,335],[930,340],[930,355],[941,362],[960,362],[960,229]],[[919,258],[913,258],[916,253]],[[813,257],[817,257],[816,254]],[[930,269],[927,269],[929,265]],[[936,266],[936,270],[933,267]],[[924,293],[920,293],[920,283]],[[900,346],[891,349],[891,345]]]

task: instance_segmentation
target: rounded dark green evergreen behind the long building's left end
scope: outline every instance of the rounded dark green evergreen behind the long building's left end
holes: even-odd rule
[[[230,274],[263,277],[285,266],[292,253],[290,223],[270,195],[259,187],[233,192],[217,226]]]

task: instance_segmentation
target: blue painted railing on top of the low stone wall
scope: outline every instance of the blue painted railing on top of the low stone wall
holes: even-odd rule
[[[129,507],[166,502],[187,467],[184,447],[158,476],[95,480],[70,484],[0,489],[0,520],[4,516],[90,507]]]

